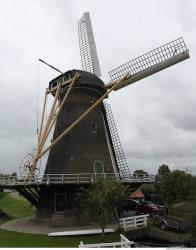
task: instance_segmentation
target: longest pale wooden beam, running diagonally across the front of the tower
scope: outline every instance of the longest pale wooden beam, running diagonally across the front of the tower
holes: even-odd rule
[[[57,137],[51,144],[48,146],[43,152],[41,152],[36,160],[39,160],[45,153],[47,153],[52,147],[54,147],[65,135],[67,135],[81,120],[83,120],[95,107],[100,104],[104,98],[108,96],[108,94],[117,87],[122,81],[127,79],[127,75],[118,80],[111,89],[109,89],[102,97],[100,97],[89,109],[87,109],[78,119],[76,119],[72,125],[70,125],[59,137]]]

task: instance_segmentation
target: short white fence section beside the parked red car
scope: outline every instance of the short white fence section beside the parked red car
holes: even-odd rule
[[[134,230],[142,227],[147,227],[149,214],[132,216],[120,218],[120,227],[123,228],[124,231]]]

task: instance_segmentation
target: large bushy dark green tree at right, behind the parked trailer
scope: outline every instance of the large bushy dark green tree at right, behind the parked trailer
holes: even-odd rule
[[[170,203],[190,200],[194,193],[194,182],[190,174],[174,170],[165,175],[160,183],[160,196]]]

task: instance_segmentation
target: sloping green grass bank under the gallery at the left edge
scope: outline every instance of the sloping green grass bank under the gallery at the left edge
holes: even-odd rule
[[[1,194],[0,210],[10,219],[18,219],[33,214],[33,206],[23,197],[13,198],[11,194]]]

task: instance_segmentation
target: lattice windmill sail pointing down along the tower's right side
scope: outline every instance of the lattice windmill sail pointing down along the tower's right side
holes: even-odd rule
[[[119,174],[121,177],[130,177],[131,172],[122,149],[112,109],[110,104],[106,102],[103,102],[103,115],[106,123],[106,128],[108,130],[108,136],[111,142],[115,162],[119,170]]]

